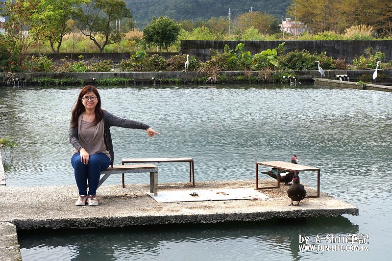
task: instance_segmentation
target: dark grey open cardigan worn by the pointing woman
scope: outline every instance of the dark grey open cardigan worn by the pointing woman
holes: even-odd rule
[[[114,162],[112,136],[110,135],[110,127],[112,126],[128,128],[128,129],[141,129],[141,130],[147,130],[148,128],[150,128],[147,124],[138,121],[120,118],[104,110],[103,111],[103,140],[105,141],[106,149],[110,154],[111,166],[113,166],[113,162]],[[70,124],[70,142],[77,151],[80,151],[80,149],[83,148],[83,146],[79,142],[77,126],[75,128],[72,128],[72,124]]]

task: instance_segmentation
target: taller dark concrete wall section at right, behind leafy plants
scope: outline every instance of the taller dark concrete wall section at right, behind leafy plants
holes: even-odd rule
[[[228,45],[229,49],[235,49],[239,43],[245,44],[245,51],[252,54],[259,53],[263,50],[278,47],[281,43],[285,44],[286,52],[295,50],[307,50],[310,53],[326,52],[328,56],[335,59],[346,59],[346,62],[352,62],[356,56],[364,54],[368,47],[372,47],[377,52],[386,54],[383,61],[392,60],[392,41],[391,40],[374,40],[374,41],[351,41],[351,40],[311,40],[311,41],[181,41],[180,52],[194,55],[205,61],[211,56],[210,49],[223,52],[224,46]]]

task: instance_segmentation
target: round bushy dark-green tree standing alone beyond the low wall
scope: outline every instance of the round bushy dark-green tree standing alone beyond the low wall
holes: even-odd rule
[[[143,29],[143,37],[146,43],[169,52],[169,47],[177,41],[180,30],[181,25],[168,17],[153,17],[151,24]]]

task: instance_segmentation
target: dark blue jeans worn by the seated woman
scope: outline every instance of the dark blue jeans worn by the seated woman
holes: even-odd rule
[[[79,195],[95,195],[99,183],[101,170],[107,169],[110,165],[110,157],[103,153],[90,155],[87,165],[80,161],[80,153],[76,153],[71,158],[71,163],[75,171],[75,180]],[[89,182],[89,193],[87,194],[87,181]]]

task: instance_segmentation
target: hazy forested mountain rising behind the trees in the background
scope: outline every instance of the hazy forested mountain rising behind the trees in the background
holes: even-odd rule
[[[137,27],[143,28],[153,16],[167,16],[179,20],[208,20],[229,16],[234,19],[243,13],[259,11],[282,19],[292,0],[124,0],[131,9]]]

